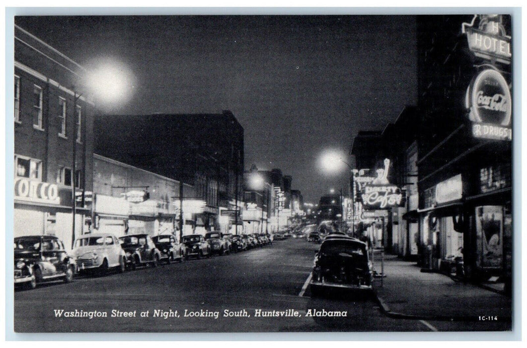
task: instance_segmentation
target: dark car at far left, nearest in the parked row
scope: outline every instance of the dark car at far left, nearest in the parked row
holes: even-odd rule
[[[15,286],[34,289],[38,283],[62,279],[70,283],[76,272],[62,240],[55,236],[25,236],[14,239]]]

